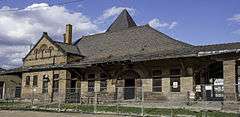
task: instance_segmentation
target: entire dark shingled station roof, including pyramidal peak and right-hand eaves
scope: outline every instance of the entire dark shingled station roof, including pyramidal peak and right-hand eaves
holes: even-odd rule
[[[202,57],[240,52],[239,42],[194,46],[173,39],[149,25],[137,26],[127,10],[122,11],[105,33],[83,36],[74,45],[52,42],[65,53],[84,56],[81,62],[67,64],[70,67],[114,61]]]

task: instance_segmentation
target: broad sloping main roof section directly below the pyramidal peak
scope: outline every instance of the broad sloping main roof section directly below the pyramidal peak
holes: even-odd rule
[[[192,45],[175,40],[149,25],[144,25],[117,32],[84,36],[76,46],[87,59],[98,59],[109,56],[148,54]]]

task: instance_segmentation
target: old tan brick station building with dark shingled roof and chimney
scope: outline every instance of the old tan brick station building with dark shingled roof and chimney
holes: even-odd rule
[[[23,58],[21,98],[92,97],[145,100],[240,99],[240,43],[195,46],[173,39],[149,25],[137,26],[123,10],[104,33],[72,43],[46,32]],[[11,72],[11,71],[10,71]],[[13,71],[16,72],[16,71]],[[71,92],[71,93],[69,93]],[[71,96],[69,94],[74,94]]]

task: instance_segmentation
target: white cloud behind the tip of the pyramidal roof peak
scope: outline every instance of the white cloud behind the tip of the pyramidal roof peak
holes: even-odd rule
[[[102,23],[106,19],[118,16],[124,9],[127,9],[127,11],[130,13],[130,15],[134,15],[136,12],[136,10],[134,8],[113,6],[109,9],[104,10],[103,14],[98,17],[97,22]]]

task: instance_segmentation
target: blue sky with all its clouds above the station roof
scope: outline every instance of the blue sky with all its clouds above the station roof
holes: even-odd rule
[[[240,42],[239,0],[80,0],[55,5],[67,1],[74,0],[0,0],[0,49],[5,50],[0,51],[0,60],[9,63],[0,62],[2,67],[20,65],[28,46],[43,31],[62,41],[64,25],[71,23],[76,40],[106,30],[123,8],[138,25],[150,23],[193,45]],[[13,9],[19,11],[8,12]],[[12,55],[6,57],[6,53]]]

